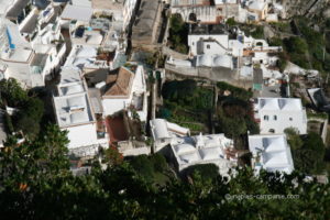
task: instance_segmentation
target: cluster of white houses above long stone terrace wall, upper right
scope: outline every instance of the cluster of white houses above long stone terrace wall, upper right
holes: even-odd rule
[[[275,68],[276,54],[282,47],[248,36],[237,26],[191,24],[188,45],[188,57],[170,56],[165,69],[189,77],[224,80],[266,96],[288,81],[287,74]]]

